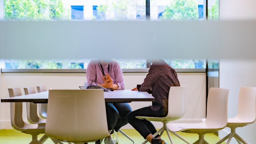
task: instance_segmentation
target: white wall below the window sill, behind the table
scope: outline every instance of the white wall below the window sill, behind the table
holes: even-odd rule
[[[143,83],[147,72],[124,73],[125,89],[132,89]],[[48,89],[79,89],[86,81],[85,73],[1,73],[1,98],[9,97],[8,88],[45,85]],[[205,73],[178,73],[181,86],[186,86],[186,109],[181,122],[200,121],[205,118],[206,102],[206,74]],[[22,94],[24,91],[22,90]],[[151,102],[131,102],[132,110],[151,105]],[[23,119],[26,118],[26,106],[23,107]],[[0,103],[0,129],[12,129],[10,124],[10,103]],[[157,128],[162,123],[154,123]],[[132,129],[127,124],[124,129]]]

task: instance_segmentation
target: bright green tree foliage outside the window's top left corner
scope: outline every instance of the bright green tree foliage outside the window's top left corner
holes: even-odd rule
[[[61,0],[4,0],[4,20],[70,20]]]

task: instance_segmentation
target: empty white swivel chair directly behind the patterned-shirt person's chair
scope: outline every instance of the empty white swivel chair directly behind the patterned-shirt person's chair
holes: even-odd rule
[[[227,99],[229,89],[210,88],[207,99],[207,115],[204,122],[188,123],[169,123],[166,124],[173,132],[196,133],[199,139],[194,144],[208,144],[204,140],[204,135],[224,129],[227,125]]]

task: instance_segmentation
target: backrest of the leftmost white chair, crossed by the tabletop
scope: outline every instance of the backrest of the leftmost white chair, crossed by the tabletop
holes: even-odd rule
[[[21,96],[20,88],[8,88],[9,96]],[[22,118],[22,102],[10,102],[11,105],[11,124],[13,129],[18,130],[25,124]]]

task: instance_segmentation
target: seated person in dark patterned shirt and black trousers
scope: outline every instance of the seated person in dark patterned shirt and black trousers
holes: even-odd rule
[[[171,86],[180,86],[176,71],[164,60],[152,60],[148,75],[141,85],[137,85],[132,91],[147,91],[155,98],[155,102],[148,107],[132,111],[127,115],[128,123],[131,124],[151,144],[164,144],[158,134],[152,134],[157,130],[146,119],[140,120],[136,116],[165,117],[168,113],[168,95]]]

